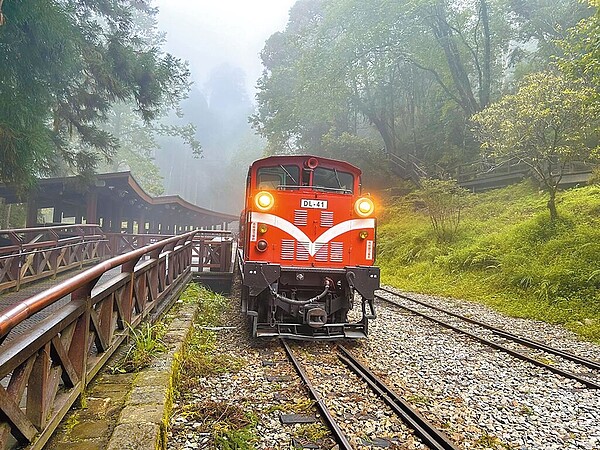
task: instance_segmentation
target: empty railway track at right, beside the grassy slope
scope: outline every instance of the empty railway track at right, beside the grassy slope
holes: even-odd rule
[[[513,357],[543,367],[565,378],[576,380],[587,388],[600,389],[600,362],[598,361],[583,358],[527,337],[518,336],[405,294],[398,294],[385,288],[380,289],[380,291],[385,293],[385,296],[376,295],[376,298],[381,301],[455,332],[465,334],[471,339],[506,352]]]

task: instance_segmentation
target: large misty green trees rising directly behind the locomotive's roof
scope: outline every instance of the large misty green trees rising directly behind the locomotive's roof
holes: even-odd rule
[[[298,2],[261,53],[253,126],[272,153],[343,148],[355,157],[384,148],[447,170],[471,161],[478,146],[469,117],[510,84],[517,65],[547,66],[561,29],[590,14],[577,0],[514,3]]]

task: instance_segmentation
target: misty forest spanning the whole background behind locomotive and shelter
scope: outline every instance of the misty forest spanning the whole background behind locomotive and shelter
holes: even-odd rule
[[[130,170],[151,195],[237,213],[249,163],[271,154],[345,159],[371,190],[482,160],[589,159],[598,6],[298,0],[248,92],[233,61],[193,81],[151,0],[0,0],[0,182]]]

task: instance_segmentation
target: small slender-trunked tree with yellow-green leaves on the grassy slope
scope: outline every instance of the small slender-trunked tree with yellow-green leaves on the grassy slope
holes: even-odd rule
[[[566,165],[589,160],[600,147],[600,103],[590,102],[593,90],[581,80],[553,72],[525,78],[519,91],[506,95],[473,119],[485,157],[517,159],[526,164],[548,192],[552,220],[555,196]]]

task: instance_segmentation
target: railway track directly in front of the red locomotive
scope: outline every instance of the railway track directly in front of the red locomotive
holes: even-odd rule
[[[364,438],[357,436],[350,436],[352,430],[365,429],[366,425],[361,424],[362,417],[365,415],[368,417],[368,414],[364,413],[365,407],[361,406],[360,408],[363,410],[361,414],[354,414],[352,417],[348,417],[348,415],[344,414],[340,417],[339,414],[334,414],[330,410],[327,402],[327,397],[337,397],[339,394],[335,394],[331,390],[331,386],[329,388],[324,388],[323,377],[330,378],[332,374],[337,373],[340,374],[340,368],[333,368],[333,361],[330,359],[325,362],[325,365],[315,364],[310,361],[310,359],[306,358],[306,355],[303,357],[298,356],[298,352],[294,352],[292,350],[290,344],[285,340],[282,340],[282,345],[288,355],[288,358],[294,365],[296,372],[302,378],[303,383],[307,387],[311,397],[315,400],[315,404],[319,409],[323,420],[326,422],[327,426],[331,430],[331,433],[337,442],[339,448],[341,449],[353,449],[357,448],[356,446],[364,445],[365,447],[369,445],[369,442],[366,442]],[[365,383],[370,388],[372,395],[375,397],[367,397],[368,402],[370,403],[370,407],[372,410],[376,411],[384,411],[387,405],[389,408],[389,412],[383,413],[383,416],[380,417],[382,421],[388,421],[389,417],[395,415],[408,429],[412,430],[410,433],[413,433],[420,440],[415,441],[416,445],[414,448],[423,448],[423,445],[427,446],[433,450],[456,450],[457,447],[449,440],[449,438],[435,426],[433,426],[430,422],[428,422],[417,410],[410,406],[408,402],[399,397],[391,388],[389,388],[381,379],[379,379],[375,374],[373,374],[368,367],[362,364],[351,351],[346,349],[341,345],[334,346],[334,351],[329,352],[329,356],[335,360],[337,356],[337,360],[343,363],[346,371],[352,372],[356,377],[345,376],[342,375],[345,383]],[[304,363],[301,361],[304,359]],[[319,361],[321,363],[321,361]],[[310,364],[310,366],[309,366]],[[330,365],[331,364],[331,365]],[[317,367],[321,365],[321,367]],[[308,372],[312,371],[312,375],[309,375]],[[320,373],[321,375],[317,374]],[[325,374],[325,375],[323,375]],[[319,381],[319,378],[321,381]],[[315,381],[315,379],[317,381]],[[354,380],[354,381],[350,381]],[[335,382],[334,382],[335,384]],[[322,393],[325,391],[325,394]],[[342,387],[343,398],[345,401],[350,401],[352,404],[348,404],[347,407],[349,409],[355,408],[356,406],[356,396],[352,398],[352,396],[348,396],[349,392],[359,392],[359,389],[349,388],[347,385]],[[364,401],[364,400],[363,400]],[[362,415],[362,417],[361,417]],[[340,417],[342,420],[342,424],[336,420],[336,417]],[[351,419],[351,420],[349,420]],[[349,423],[353,422],[353,423]],[[389,429],[393,429],[392,426]],[[403,433],[406,433],[404,431]],[[402,434],[398,433],[398,434]],[[390,438],[390,436],[387,436]],[[394,442],[397,437],[392,437],[391,444],[404,444],[404,442]],[[381,442],[385,442],[385,439],[380,439]],[[387,446],[387,443],[386,443]],[[402,447],[405,448],[405,447]]]

